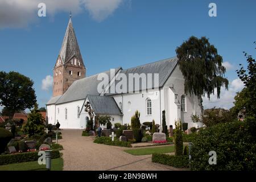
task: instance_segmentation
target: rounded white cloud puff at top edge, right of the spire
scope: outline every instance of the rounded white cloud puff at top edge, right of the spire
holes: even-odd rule
[[[118,8],[122,0],[83,0],[93,19],[101,22]]]

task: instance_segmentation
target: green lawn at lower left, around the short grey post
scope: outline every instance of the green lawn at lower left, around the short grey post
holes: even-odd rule
[[[31,170],[44,170],[46,165],[39,165],[37,161],[7,164],[0,166],[0,171],[31,171]],[[63,159],[57,158],[52,159],[51,163],[52,171],[62,171],[63,170]]]

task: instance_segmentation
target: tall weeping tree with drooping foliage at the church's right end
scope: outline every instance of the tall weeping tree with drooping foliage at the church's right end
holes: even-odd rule
[[[220,98],[221,86],[228,90],[229,81],[224,77],[226,68],[217,49],[205,37],[191,36],[176,48],[179,67],[183,73],[185,94],[195,94],[202,102],[202,96],[214,94]]]

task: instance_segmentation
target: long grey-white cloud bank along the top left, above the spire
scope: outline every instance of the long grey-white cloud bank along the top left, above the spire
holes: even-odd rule
[[[46,16],[69,11],[73,15],[88,10],[100,22],[118,8],[124,0],[0,0],[0,28],[22,28],[38,21],[38,4],[46,4]]]

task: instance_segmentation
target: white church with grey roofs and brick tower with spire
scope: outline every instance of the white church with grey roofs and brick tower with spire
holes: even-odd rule
[[[59,122],[61,129],[85,129],[89,115],[84,105],[89,102],[94,117],[110,115],[113,126],[114,123],[130,124],[136,110],[141,113],[141,123],[154,119],[156,124],[162,125],[162,111],[165,110],[168,127],[172,125],[175,128],[177,119],[188,123],[189,128],[196,126],[191,115],[201,115],[201,104],[197,96],[185,95],[184,77],[177,63],[177,58],[172,57],[134,68],[119,67],[114,71],[107,68],[104,73],[85,76],[85,64],[69,19],[53,68],[53,97],[47,102],[48,123],[55,125]],[[146,88],[142,86],[143,74],[151,76],[147,77]],[[108,76],[109,80],[105,80],[107,84],[99,91],[102,75]],[[122,92],[110,92],[129,75],[141,76],[139,88],[130,84],[128,79],[129,84],[119,84]],[[153,86],[148,87],[150,84]]]

